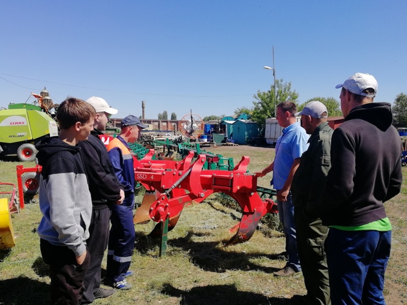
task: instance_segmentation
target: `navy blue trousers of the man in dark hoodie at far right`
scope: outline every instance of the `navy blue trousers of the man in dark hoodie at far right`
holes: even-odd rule
[[[391,231],[329,229],[326,253],[332,305],[386,304],[383,284],[390,246]]]

